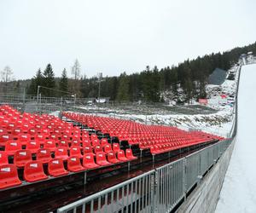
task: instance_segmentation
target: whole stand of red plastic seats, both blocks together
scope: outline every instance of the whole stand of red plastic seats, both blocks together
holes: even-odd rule
[[[128,164],[129,169],[133,161],[141,164],[144,151],[154,157],[224,140],[201,131],[118,118],[75,112],[61,115],[0,107],[0,192],[117,165]]]

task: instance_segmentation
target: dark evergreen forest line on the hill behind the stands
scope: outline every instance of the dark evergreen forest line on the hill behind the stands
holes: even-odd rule
[[[101,97],[110,97],[112,101],[164,101],[169,97],[178,101],[182,90],[185,98],[205,98],[207,78],[215,68],[230,69],[241,54],[253,51],[256,55],[256,43],[242,48],[231,49],[224,53],[204,55],[194,60],[184,60],[177,66],[166,66],[159,69],[157,66],[147,66],[142,72],[127,75],[121,73],[119,77],[103,77],[101,81]],[[79,62],[76,60],[72,73],[75,78],[67,78],[66,69],[63,70],[61,78],[55,78],[50,64],[44,72],[39,69],[36,76],[27,89],[27,94],[36,95],[38,85],[59,89],[64,92],[73,92],[78,97],[97,97],[99,80],[97,77],[86,78],[79,75]],[[62,96],[65,93],[59,91],[42,89],[41,94],[45,96]]]

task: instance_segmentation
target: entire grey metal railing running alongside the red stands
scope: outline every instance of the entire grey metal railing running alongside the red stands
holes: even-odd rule
[[[219,141],[185,158],[67,204],[57,212],[170,212],[230,146]]]

